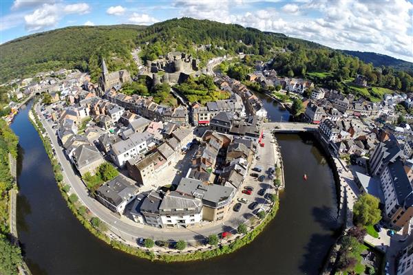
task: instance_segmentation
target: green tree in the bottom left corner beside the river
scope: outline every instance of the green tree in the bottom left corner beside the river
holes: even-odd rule
[[[17,266],[23,261],[20,248],[0,234],[0,251],[0,274],[18,274]]]

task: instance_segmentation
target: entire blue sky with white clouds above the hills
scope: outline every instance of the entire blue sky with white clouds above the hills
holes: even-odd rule
[[[0,43],[69,25],[151,25],[176,17],[237,23],[413,62],[413,0],[0,0]]]

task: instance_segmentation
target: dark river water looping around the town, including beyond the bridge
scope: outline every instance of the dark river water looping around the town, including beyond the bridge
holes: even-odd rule
[[[17,227],[33,274],[319,273],[340,223],[336,220],[332,170],[311,135],[277,135],[286,189],[280,195],[277,216],[253,243],[209,261],[152,263],[110,248],[70,212],[54,181],[43,144],[28,120],[30,104],[11,127],[21,146]],[[288,116],[269,101],[266,109],[273,120]]]

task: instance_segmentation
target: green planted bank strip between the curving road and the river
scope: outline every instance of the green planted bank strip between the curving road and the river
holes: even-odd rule
[[[109,244],[112,246],[112,248],[116,248],[118,250],[122,250],[123,252],[127,252],[129,254],[133,254],[134,256],[139,256],[140,258],[144,259],[149,259],[151,261],[195,261],[195,260],[201,260],[201,259],[211,259],[212,257],[215,256],[220,256],[223,254],[229,254],[231,252],[234,252],[235,250],[238,250],[242,246],[251,243],[255,237],[264,230],[264,227],[266,224],[275,217],[275,213],[277,212],[278,209],[278,199],[275,197],[275,201],[271,204],[271,210],[266,214],[266,217],[264,218],[263,221],[257,220],[256,222],[260,222],[260,225],[250,225],[249,230],[250,232],[246,234],[239,234],[238,232],[235,232],[235,234],[231,234],[228,239],[223,239],[220,247],[215,248],[211,245],[205,246],[201,245],[201,248],[187,248],[187,250],[184,250],[183,252],[177,252],[177,250],[169,249],[165,251],[165,249],[161,248],[152,248],[152,249],[147,249],[147,248],[136,248],[129,243],[123,243],[122,241],[118,241],[118,239],[114,239],[113,234],[110,232],[107,232],[107,230],[99,230],[99,228],[94,227],[92,223],[92,216],[90,214],[86,214],[85,206],[81,206],[76,204],[77,199],[73,201],[71,197],[73,196],[74,192],[71,192],[71,188],[65,188],[65,183],[63,181],[63,176],[61,176],[61,171],[60,171],[60,164],[57,164],[57,159],[56,159],[56,151],[52,147],[50,143],[50,137],[47,135],[47,131],[45,131],[45,128],[39,120],[38,115],[36,114],[34,110],[36,104],[33,104],[32,110],[29,112],[29,118],[30,121],[32,122],[33,126],[35,127],[36,131],[39,133],[39,137],[41,137],[41,140],[43,142],[43,146],[45,147],[45,151],[47,155],[50,157],[50,161],[52,162],[52,166],[54,168],[54,173],[55,173],[55,179],[58,181],[58,186],[59,190],[61,190],[61,193],[63,195],[63,198],[67,202],[70,210],[72,210],[72,213],[75,215],[75,217],[81,221],[81,223],[91,232],[94,234],[98,239],[101,239],[102,241],[105,241],[105,243]],[[57,166],[57,168],[56,168]],[[58,169],[59,168],[59,169]],[[255,219],[255,218],[254,218]],[[113,232],[113,231],[112,231]],[[113,232],[114,233],[114,232]],[[120,239],[120,238],[119,238]]]

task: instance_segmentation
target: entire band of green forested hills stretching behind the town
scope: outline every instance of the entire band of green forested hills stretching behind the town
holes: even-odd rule
[[[204,65],[209,58],[244,52],[244,61],[253,67],[257,60],[271,61],[280,75],[306,77],[308,73],[328,73],[330,87],[340,89],[342,80],[362,74],[369,85],[413,92],[412,72],[377,68],[352,55],[284,34],[261,32],[236,24],[191,18],[170,19],[148,27],[112,25],[70,27],[25,36],[0,45],[0,83],[32,76],[50,69],[77,68],[100,75],[101,57],[109,71],[137,68],[131,56],[134,47],[152,61],[171,51],[187,52]]]

